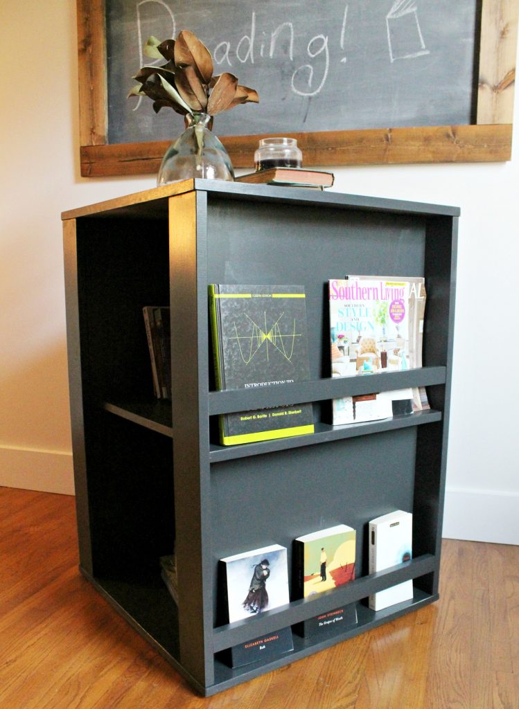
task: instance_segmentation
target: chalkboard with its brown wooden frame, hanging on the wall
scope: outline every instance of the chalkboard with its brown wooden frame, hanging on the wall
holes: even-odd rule
[[[83,177],[158,171],[182,118],[126,94],[182,29],[260,94],[214,123],[234,167],[266,135],[307,167],[510,160],[519,0],[76,2]]]

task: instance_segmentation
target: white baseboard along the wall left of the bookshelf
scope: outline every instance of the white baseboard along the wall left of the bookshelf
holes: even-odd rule
[[[72,453],[0,446],[0,486],[73,495]]]

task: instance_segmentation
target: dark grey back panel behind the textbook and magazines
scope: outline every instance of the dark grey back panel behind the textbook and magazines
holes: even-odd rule
[[[425,218],[209,196],[209,283],[302,284],[310,376],[329,376],[327,281],[346,272],[422,276]]]

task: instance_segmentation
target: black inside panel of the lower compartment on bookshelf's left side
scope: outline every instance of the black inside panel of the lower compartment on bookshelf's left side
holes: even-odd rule
[[[175,542],[173,445],[105,411],[85,418],[94,575],[160,576]]]

